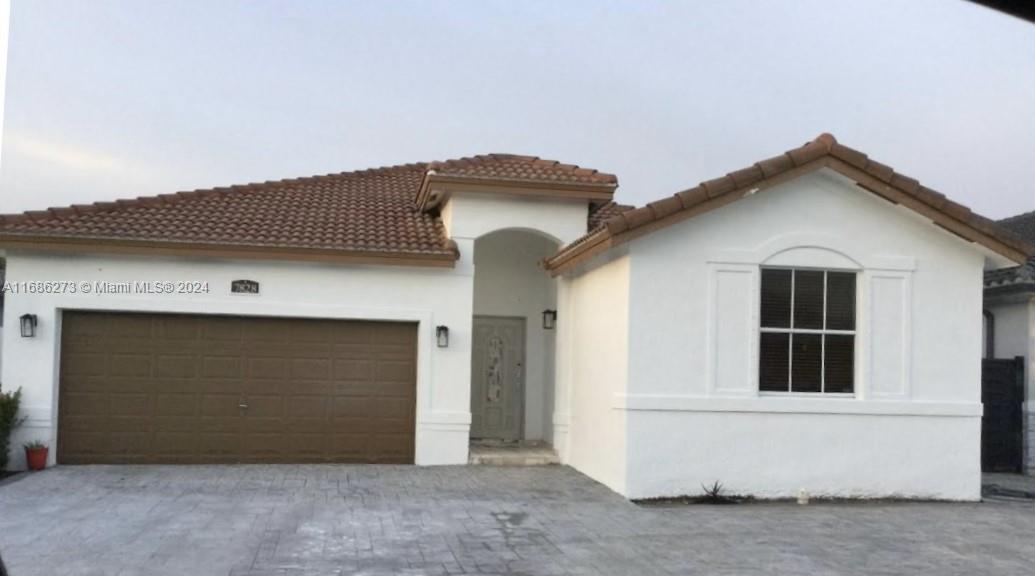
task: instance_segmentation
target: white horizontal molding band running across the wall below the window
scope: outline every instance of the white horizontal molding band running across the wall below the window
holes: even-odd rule
[[[980,402],[931,402],[909,399],[861,400],[852,395],[715,397],[616,394],[615,410],[631,412],[739,412],[766,414],[848,414],[871,416],[981,417]]]

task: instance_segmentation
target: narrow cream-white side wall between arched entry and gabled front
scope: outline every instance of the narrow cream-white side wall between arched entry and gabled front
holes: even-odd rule
[[[627,493],[626,415],[613,410],[628,385],[629,260],[561,281],[555,435],[561,461]]]

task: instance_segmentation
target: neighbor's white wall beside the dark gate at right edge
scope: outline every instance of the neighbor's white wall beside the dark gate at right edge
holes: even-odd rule
[[[1031,296],[1005,297],[986,303],[996,319],[996,358],[1025,358],[1025,474],[1035,474],[1035,300]]]

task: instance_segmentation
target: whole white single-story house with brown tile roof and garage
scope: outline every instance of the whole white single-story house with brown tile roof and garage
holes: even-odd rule
[[[490,154],[4,216],[16,442],[541,439],[628,497],[979,497],[982,274],[1031,246],[829,134],[642,208],[617,185]]]

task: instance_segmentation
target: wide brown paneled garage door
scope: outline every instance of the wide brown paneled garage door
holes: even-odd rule
[[[414,324],[67,311],[58,461],[413,462]]]

